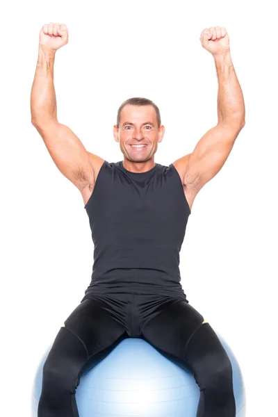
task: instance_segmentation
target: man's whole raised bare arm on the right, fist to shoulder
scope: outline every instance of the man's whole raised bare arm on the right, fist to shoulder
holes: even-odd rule
[[[245,104],[224,28],[202,31],[202,46],[215,60],[218,76],[218,124],[197,142],[192,154],[174,162],[181,172],[190,205],[199,190],[220,171],[245,125]]]

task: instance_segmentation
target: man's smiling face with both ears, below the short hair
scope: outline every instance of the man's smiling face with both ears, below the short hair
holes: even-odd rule
[[[164,135],[164,126],[158,129],[156,111],[153,106],[132,106],[122,108],[119,129],[114,126],[114,138],[120,142],[125,158],[132,162],[145,162],[156,153],[158,142]],[[145,145],[133,147],[132,145]]]

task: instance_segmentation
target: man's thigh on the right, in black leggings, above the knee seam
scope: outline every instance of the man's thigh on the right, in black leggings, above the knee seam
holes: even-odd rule
[[[184,359],[190,337],[203,322],[202,314],[188,302],[171,298],[146,320],[142,336],[158,350]]]

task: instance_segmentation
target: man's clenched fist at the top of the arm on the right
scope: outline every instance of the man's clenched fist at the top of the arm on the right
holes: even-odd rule
[[[202,47],[213,56],[224,55],[230,49],[229,35],[225,28],[215,26],[214,28],[206,28],[202,31],[200,36]]]

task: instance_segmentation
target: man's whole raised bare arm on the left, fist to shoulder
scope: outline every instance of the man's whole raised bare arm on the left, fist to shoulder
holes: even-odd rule
[[[58,170],[81,193],[84,190],[90,193],[95,182],[95,171],[104,160],[87,152],[72,130],[57,119],[54,60],[56,51],[67,42],[65,24],[51,23],[42,27],[38,63],[31,90],[31,122],[42,136]]]

